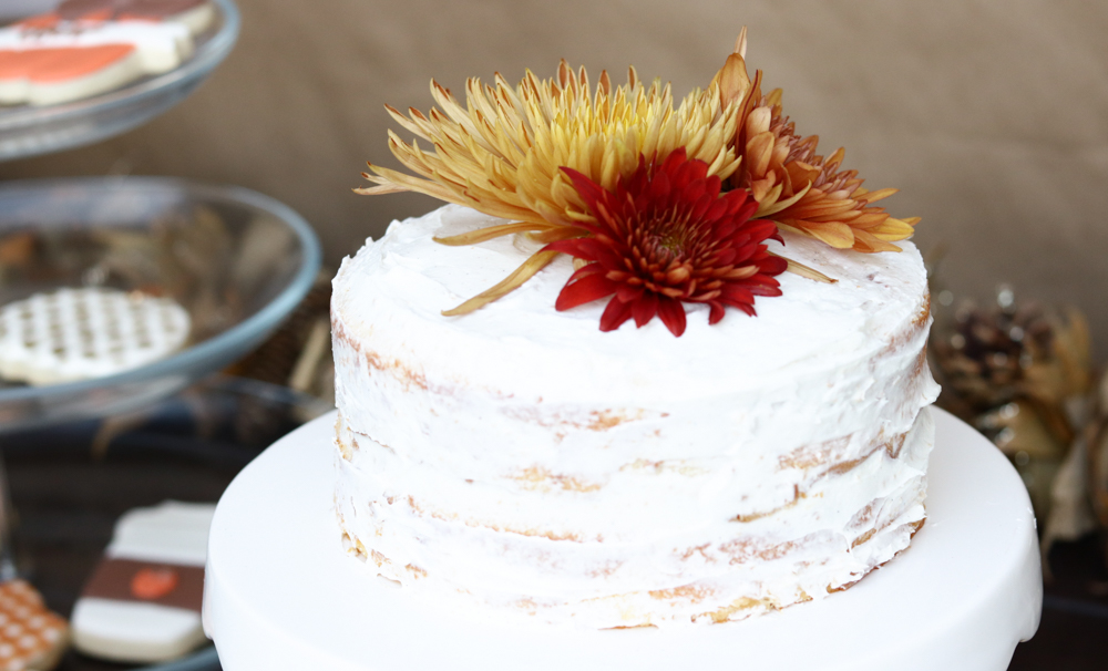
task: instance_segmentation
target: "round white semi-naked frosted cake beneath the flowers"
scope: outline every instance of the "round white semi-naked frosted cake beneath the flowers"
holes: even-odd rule
[[[442,317],[537,248],[431,239],[491,223],[393,223],[335,280],[336,503],[381,575],[548,621],[665,624],[819,598],[907,546],[937,392],[914,246],[789,237],[840,281],[783,275],[759,317],[710,327],[687,306],[681,338],[602,333],[605,301],[555,311],[566,258]]]

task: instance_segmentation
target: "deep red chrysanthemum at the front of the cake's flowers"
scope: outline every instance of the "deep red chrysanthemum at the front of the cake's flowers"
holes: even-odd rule
[[[752,316],[756,296],[781,295],[773,276],[788,262],[763,244],[781,239],[777,226],[750,219],[758,203],[745,189],[720,195],[720,180],[708,176],[708,164],[688,159],[685,149],[660,165],[640,159],[615,192],[571,168],[562,171],[594,220],[578,224],[587,237],[545,247],[587,261],[570,276],[555,303],[558,310],[615,295],[601,317],[602,331],[632,318],[642,327],[657,316],[680,336],[681,302],[707,303],[708,323],[716,323],[725,306]]]

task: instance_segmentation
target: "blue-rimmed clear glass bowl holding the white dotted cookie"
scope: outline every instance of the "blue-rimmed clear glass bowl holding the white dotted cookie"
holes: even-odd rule
[[[0,382],[0,434],[136,410],[258,345],[319,271],[315,233],[255,192],[165,177],[0,185],[0,304],[61,287],[165,296],[192,318],[185,349],[114,375]]]

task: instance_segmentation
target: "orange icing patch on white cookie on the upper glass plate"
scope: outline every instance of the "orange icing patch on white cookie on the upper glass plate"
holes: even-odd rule
[[[134,52],[133,44],[0,50],[0,80],[63,82],[99,72]]]

